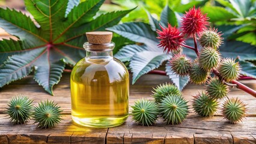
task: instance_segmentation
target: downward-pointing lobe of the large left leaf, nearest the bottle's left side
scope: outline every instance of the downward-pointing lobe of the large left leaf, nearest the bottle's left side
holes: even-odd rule
[[[35,68],[35,81],[43,86],[43,88],[53,95],[53,85],[57,84],[61,79],[62,72],[65,68],[65,61],[50,62],[47,53],[44,53],[38,59],[38,66]]]

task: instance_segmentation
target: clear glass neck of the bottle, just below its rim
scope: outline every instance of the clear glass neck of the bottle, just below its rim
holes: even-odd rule
[[[108,61],[113,59],[113,51],[107,50],[107,51],[86,51],[86,57],[87,60],[103,60]]]

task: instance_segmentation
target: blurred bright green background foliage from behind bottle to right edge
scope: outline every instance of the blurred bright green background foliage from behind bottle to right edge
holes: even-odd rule
[[[174,11],[177,19],[191,7],[201,7],[210,17],[212,26],[233,29],[228,40],[243,41],[256,46],[256,1],[255,0],[112,0],[101,11],[127,10],[137,7],[122,19],[122,22],[149,22],[147,11],[159,20],[165,5]]]

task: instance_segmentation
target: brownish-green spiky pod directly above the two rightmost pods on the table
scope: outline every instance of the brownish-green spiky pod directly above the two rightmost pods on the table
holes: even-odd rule
[[[222,99],[227,96],[228,86],[225,85],[218,77],[213,77],[209,80],[208,85],[206,87],[206,91],[209,94],[210,98],[213,99]]]

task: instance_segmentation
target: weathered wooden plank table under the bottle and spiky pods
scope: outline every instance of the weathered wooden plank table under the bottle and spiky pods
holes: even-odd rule
[[[130,85],[130,105],[139,98],[149,98],[152,86],[168,82],[166,76],[147,74],[135,85]],[[256,80],[241,80],[256,89]],[[183,90],[186,100],[191,100],[203,86],[189,84]],[[61,106],[63,121],[52,129],[37,128],[34,121],[26,125],[13,125],[4,114],[7,101],[17,94],[25,94],[37,104],[40,100],[54,100]],[[114,128],[88,128],[72,122],[70,116],[69,73],[54,87],[55,96],[47,94],[31,76],[0,89],[0,143],[256,143],[256,98],[236,88],[228,97],[239,97],[248,104],[249,115],[239,124],[230,124],[219,112],[212,118],[202,118],[190,109],[182,124],[166,125],[162,119],[150,127],[142,127],[131,120]],[[221,101],[223,103],[223,100]],[[189,103],[190,104],[190,103]]]

